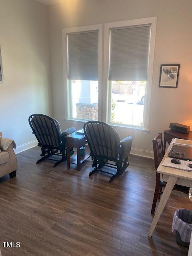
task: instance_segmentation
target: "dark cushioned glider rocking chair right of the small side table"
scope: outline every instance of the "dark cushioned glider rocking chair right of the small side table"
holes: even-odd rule
[[[90,148],[90,156],[92,157],[95,167],[89,176],[94,172],[100,171],[111,174],[109,182],[121,175],[128,167],[128,156],[130,154],[132,137],[129,136],[120,141],[118,132],[106,123],[99,121],[88,121],[84,124],[84,133]],[[108,163],[109,161],[115,164]],[[101,170],[103,166],[115,168],[116,173]]]

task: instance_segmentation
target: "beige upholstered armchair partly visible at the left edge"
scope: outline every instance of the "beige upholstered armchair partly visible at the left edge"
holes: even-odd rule
[[[14,140],[2,138],[0,133],[0,177],[9,174],[10,178],[16,176],[17,158],[13,148],[16,148]]]

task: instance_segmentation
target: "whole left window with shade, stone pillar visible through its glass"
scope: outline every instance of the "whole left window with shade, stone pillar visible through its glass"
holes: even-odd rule
[[[100,25],[94,25],[64,30],[68,117],[72,119],[98,120],[100,29]]]

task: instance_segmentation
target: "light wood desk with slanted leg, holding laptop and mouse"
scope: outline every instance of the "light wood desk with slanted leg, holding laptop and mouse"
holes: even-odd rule
[[[168,175],[168,182],[166,184],[166,187],[164,189],[164,192],[162,194],[162,197],[160,199],[158,208],[155,212],[152,224],[150,226],[150,230],[148,232],[148,236],[151,237],[152,233],[156,227],[156,224],[162,214],[162,211],[167,203],[167,200],[173,190],[173,187],[175,184],[180,184],[183,186],[187,186],[187,187],[192,187],[192,172],[187,172],[184,170],[179,170],[179,169],[174,169],[174,168],[170,168],[170,167],[166,167],[166,166],[162,166],[162,163],[164,162],[164,159],[166,158],[166,156],[168,155],[170,148],[172,146],[172,142],[174,139],[172,139],[165,155],[164,158],[162,159],[162,161],[160,162],[160,165],[157,169],[157,172],[164,174],[164,175]]]

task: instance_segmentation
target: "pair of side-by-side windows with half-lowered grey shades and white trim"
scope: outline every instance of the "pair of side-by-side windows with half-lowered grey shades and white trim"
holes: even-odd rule
[[[156,17],[63,29],[67,119],[149,128]],[[67,103],[65,103],[67,102]]]

